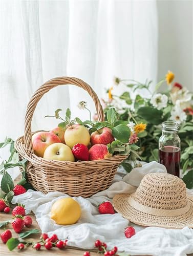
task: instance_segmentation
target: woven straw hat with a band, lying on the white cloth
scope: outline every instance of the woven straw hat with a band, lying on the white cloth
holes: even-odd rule
[[[193,228],[193,197],[178,177],[147,174],[133,194],[113,198],[113,206],[124,218],[141,226]]]

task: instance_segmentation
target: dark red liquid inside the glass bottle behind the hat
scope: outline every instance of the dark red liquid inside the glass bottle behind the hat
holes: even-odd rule
[[[168,174],[180,177],[180,148],[164,146],[159,150],[159,163],[165,165]]]

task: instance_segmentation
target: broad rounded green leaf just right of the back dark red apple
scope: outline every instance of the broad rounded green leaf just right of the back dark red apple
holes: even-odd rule
[[[130,128],[125,124],[119,124],[112,129],[113,136],[122,142],[127,143],[130,138]]]

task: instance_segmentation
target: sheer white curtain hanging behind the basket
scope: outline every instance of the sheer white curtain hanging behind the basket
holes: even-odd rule
[[[99,98],[113,77],[144,81],[157,76],[155,1],[69,0],[0,1],[0,139],[24,134],[27,103],[45,81],[75,76],[88,82]],[[115,89],[120,93],[121,88]],[[70,106],[73,115],[90,96],[75,87],[58,87],[38,103],[33,130],[52,129],[44,118]],[[64,112],[63,112],[64,113]],[[0,154],[2,155],[2,154]]]

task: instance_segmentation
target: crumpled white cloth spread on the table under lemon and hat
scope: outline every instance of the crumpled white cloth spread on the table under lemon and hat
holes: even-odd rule
[[[97,206],[102,201],[112,201],[116,194],[134,193],[147,173],[166,172],[163,165],[157,162],[145,163],[142,167],[134,168],[122,181],[125,174],[122,168],[115,177],[115,182],[106,190],[101,191],[91,198],[73,197],[81,206],[81,218],[74,225],[57,225],[50,219],[50,210],[53,203],[59,198],[68,197],[66,194],[51,192],[47,195],[38,191],[28,190],[27,193],[13,198],[12,203],[23,203],[26,212],[33,211],[42,232],[49,235],[56,233],[59,239],[68,237],[69,245],[81,248],[93,248],[97,239],[105,241],[108,248],[117,246],[120,251],[131,255],[151,254],[183,256],[193,252],[193,230],[165,229],[135,225],[124,219],[120,214],[100,215]],[[131,239],[124,236],[124,228],[132,225],[136,235]]]

